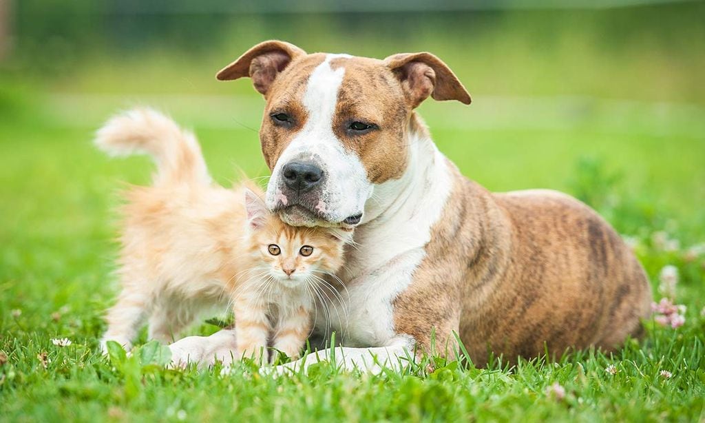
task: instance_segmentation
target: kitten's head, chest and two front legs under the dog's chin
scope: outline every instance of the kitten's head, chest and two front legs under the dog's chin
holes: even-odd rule
[[[253,231],[247,247],[250,277],[233,293],[238,350],[259,358],[272,335],[273,347],[298,358],[312,329],[312,293],[326,295],[326,276],[343,264],[343,241],[331,229],[295,228],[267,212],[259,197],[247,195]],[[343,232],[345,234],[345,232]],[[272,330],[274,332],[272,333]],[[276,355],[271,358],[274,359]]]

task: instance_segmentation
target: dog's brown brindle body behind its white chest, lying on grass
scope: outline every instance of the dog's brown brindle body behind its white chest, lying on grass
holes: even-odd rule
[[[549,190],[491,193],[453,169],[453,192],[412,285],[399,333],[444,355],[455,336],[478,366],[548,350],[612,350],[642,333],[651,288],[620,236],[585,204]]]

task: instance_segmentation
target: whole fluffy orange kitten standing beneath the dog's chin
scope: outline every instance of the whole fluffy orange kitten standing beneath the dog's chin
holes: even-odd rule
[[[150,339],[172,341],[199,314],[233,305],[234,358],[262,357],[272,331],[274,348],[298,357],[312,326],[312,284],[340,269],[350,233],[287,226],[254,185],[216,185],[195,137],[156,111],[111,119],[95,142],[114,155],[147,153],[158,168],[152,186],[125,194],[122,291],[102,348],[129,349],[145,319]]]

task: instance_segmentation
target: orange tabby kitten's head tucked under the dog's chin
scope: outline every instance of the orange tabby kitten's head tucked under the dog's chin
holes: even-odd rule
[[[245,209],[250,255],[283,286],[302,286],[307,279],[334,274],[343,265],[343,247],[352,239],[352,231],[289,226],[250,190],[245,190]]]

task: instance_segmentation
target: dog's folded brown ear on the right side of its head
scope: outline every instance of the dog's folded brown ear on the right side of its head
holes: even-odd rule
[[[430,53],[401,53],[384,59],[400,80],[407,102],[413,108],[429,97],[470,104],[470,94],[448,65]]]

